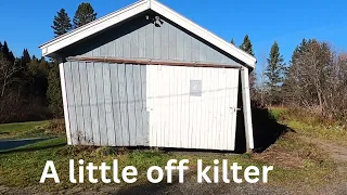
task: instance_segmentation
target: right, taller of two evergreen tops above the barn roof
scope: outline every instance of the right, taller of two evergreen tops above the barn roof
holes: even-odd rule
[[[74,28],[83,26],[97,20],[97,13],[90,3],[82,2],[78,5],[74,16]]]

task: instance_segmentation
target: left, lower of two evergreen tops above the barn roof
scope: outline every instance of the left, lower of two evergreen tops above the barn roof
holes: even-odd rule
[[[54,31],[54,37],[66,34],[72,29],[73,25],[70,24],[70,18],[64,9],[61,9],[54,16],[53,26],[51,28]]]

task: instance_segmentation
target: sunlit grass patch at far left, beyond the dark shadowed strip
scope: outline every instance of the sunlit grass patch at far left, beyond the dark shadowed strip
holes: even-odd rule
[[[0,139],[42,138],[48,121],[31,121],[0,125]]]

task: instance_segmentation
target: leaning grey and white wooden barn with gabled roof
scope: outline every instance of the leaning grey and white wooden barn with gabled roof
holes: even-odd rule
[[[256,58],[158,1],[138,1],[40,49],[60,62],[70,145],[234,151],[242,88],[254,148]]]

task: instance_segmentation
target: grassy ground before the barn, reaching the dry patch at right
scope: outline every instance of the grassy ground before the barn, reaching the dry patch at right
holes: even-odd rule
[[[277,118],[281,118],[283,109],[272,109]],[[282,117],[283,118],[283,117]],[[282,119],[284,121],[284,119]],[[262,154],[202,154],[202,153],[164,153],[156,151],[132,151],[115,152],[113,148],[91,146],[70,147],[62,145],[65,138],[61,136],[54,140],[27,145],[16,151],[0,154],[0,185],[8,186],[28,186],[39,185],[44,190],[59,190],[75,186],[68,182],[68,159],[85,159],[100,165],[102,161],[112,164],[113,159],[118,159],[120,169],[131,165],[139,170],[139,182],[145,181],[145,170],[151,166],[164,167],[168,159],[190,159],[190,168],[196,167],[196,159],[203,159],[206,164],[213,165],[214,159],[229,159],[232,162],[239,162],[242,166],[255,165],[274,166],[274,171],[270,173],[269,184],[279,185],[290,188],[303,188],[320,186],[324,183],[333,182],[334,162],[327,155],[319,150],[314,144],[306,143],[300,140],[301,136],[318,136],[316,132],[307,130],[305,125],[299,120],[291,119],[287,122],[297,133],[290,132],[282,136],[277,144],[272,145]],[[301,122],[296,127],[295,122]],[[29,125],[31,126],[31,125]],[[8,130],[13,131],[14,126],[9,126]],[[23,127],[23,126],[21,126]],[[33,126],[31,126],[33,127]],[[3,127],[2,127],[3,128]],[[312,127],[316,128],[314,126]],[[3,128],[5,129],[5,128]],[[3,131],[2,129],[2,131]],[[11,130],[12,129],[12,130]],[[24,128],[23,128],[24,129]],[[20,130],[25,132],[25,130]],[[33,129],[33,128],[27,128]],[[329,133],[327,129],[320,131]],[[331,136],[337,136],[335,132]],[[320,138],[320,136],[318,136]],[[42,173],[46,160],[53,160],[57,169],[61,184],[39,184],[38,181]],[[77,170],[77,169],[75,169]],[[100,176],[97,174],[97,178]],[[51,181],[51,180],[49,180]],[[98,187],[102,183],[91,185],[79,184],[85,187]],[[114,185],[114,184],[113,184]]]

